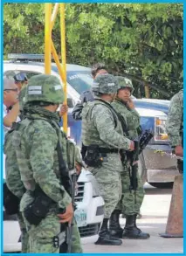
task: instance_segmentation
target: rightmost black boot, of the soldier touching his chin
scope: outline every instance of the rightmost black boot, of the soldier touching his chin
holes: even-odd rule
[[[126,225],[122,233],[122,239],[148,239],[150,235],[136,226],[137,214],[126,216]]]

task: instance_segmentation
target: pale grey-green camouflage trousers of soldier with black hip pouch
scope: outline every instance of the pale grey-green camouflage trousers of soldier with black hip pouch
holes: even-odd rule
[[[120,156],[107,154],[107,162],[100,168],[89,168],[99,186],[100,196],[105,202],[104,218],[110,218],[118,201],[121,199],[121,170]]]

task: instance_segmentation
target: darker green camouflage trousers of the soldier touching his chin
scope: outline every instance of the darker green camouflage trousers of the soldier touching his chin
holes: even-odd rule
[[[121,210],[122,214],[134,215],[140,212],[141,204],[144,197],[143,184],[137,173],[138,188],[134,194],[134,190],[130,190],[130,176],[127,168],[121,172],[122,195],[121,200],[116,206],[116,210]],[[136,202],[135,202],[136,200]]]

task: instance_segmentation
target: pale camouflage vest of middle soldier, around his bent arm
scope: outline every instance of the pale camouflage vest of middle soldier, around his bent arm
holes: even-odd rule
[[[96,105],[102,105],[102,107],[106,108],[106,111],[109,111],[109,114],[113,117],[114,120],[115,130],[119,134],[123,135],[121,122],[119,121],[117,114],[115,114],[114,110],[112,110],[113,107],[109,107],[109,105],[104,101],[94,100],[93,102],[86,103],[82,111],[82,142],[85,146],[95,144],[101,148],[111,149],[107,143],[100,140],[100,134],[97,128],[94,126],[92,113],[93,107]],[[107,126],[107,124],[105,125]]]

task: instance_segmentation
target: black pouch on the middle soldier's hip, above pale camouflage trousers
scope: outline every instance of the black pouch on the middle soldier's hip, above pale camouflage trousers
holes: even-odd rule
[[[85,163],[90,167],[100,167],[103,163],[103,159],[100,156],[99,146],[90,145],[87,147]]]

